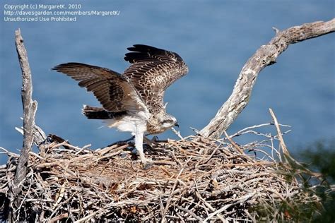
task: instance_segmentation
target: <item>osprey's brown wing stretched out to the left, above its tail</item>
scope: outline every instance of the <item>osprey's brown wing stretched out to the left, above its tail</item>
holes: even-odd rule
[[[52,70],[78,80],[78,85],[93,92],[107,111],[146,111],[128,78],[115,71],[79,63],[59,64]]]

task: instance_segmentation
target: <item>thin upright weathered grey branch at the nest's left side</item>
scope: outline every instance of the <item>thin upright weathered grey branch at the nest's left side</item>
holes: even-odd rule
[[[27,51],[23,44],[23,38],[20,30],[16,30],[16,51],[18,52],[18,61],[22,71],[23,85],[21,89],[21,99],[23,104],[23,147],[18,159],[16,169],[13,196],[14,198],[20,193],[20,183],[25,179],[27,174],[28,157],[34,140],[35,113],[37,102],[32,100],[33,85],[31,80],[31,71],[28,63]]]

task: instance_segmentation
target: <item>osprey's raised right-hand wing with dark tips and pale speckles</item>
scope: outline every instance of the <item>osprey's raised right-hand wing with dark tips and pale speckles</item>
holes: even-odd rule
[[[164,49],[141,44],[128,48],[124,59],[131,66],[124,71],[124,76],[134,85],[143,102],[152,113],[163,107],[163,96],[167,87],[175,80],[186,75],[187,65],[182,58]]]

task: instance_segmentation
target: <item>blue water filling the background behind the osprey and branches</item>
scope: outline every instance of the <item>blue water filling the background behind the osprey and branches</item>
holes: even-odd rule
[[[57,64],[77,61],[122,72],[132,44],[149,44],[182,56],[189,73],[165,94],[167,111],[177,117],[182,135],[201,129],[228,99],[247,59],[274,37],[272,27],[334,18],[334,1],[71,1],[83,11],[120,11],[119,16],[78,16],[74,23],[4,22],[5,4],[61,4],[70,1],[3,0],[1,6],[0,147],[20,150],[22,80],[14,45],[20,28],[33,73],[36,123],[72,144],[101,147],[129,138],[129,133],[99,128],[100,121],[81,115],[95,97],[60,73]],[[334,34],[290,45],[278,63],[261,71],[246,109],[228,133],[271,121],[292,126],[288,147],[334,138]],[[270,131],[270,130],[269,130]],[[176,138],[167,131],[159,138]],[[237,139],[239,140],[239,139]],[[247,142],[251,136],[240,139]],[[0,155],[0,163],[6,156]]]

